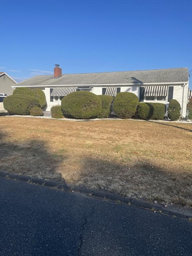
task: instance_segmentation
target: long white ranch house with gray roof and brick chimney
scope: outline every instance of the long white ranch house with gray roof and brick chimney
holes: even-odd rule
[[[185,117],[188,86],[188,68],[62,75],[59,65],[55,65],[54,75],[35,76],[14,85],[13,88],[42,89],[46,95],[47,111],[74,91],[83,90],[112,96],[118,92],[132,92],[140,102],[161,102],[168,106],[171,99],[176,99],[181,105],[182,117]]]

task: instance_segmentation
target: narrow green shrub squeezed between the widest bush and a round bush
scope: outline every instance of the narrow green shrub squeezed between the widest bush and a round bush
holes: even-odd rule
[[[98,118],[107,118],[110,114],[110,107],[111,103],[113,101],[113,96],[110,95],[98,95],[98,97],[101,99],[101,112],[98,114]]]

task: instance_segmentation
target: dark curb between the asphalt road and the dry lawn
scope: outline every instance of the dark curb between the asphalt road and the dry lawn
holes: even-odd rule
[[[0,177],[2,178],[10,178],[18,181],[24,181],[24,182],[30,182],[38,185],[44,185],[47,187],[57,187],[58,189],[62,189],[64,191],[68,192],[80,192],[84,193],[93,197],[101,198],[101,199],[107,199],[109,201],[117,202],[118,203],[123,203],[123,204],[128,204],[130,206],[136,206],[139,208],[144,208],[144,209],[152,209],[154,208],[156,212],[161,211],[163,214],[171,215],[174,217],[179,217],[179,218],[186,218],[189,219],[192,217],[192,211],[188,211],[188,213],[180,213],[175,211],[174,209],[165,209],[164,205],[161,204],[151,204],[143,200],[136,200],[128,197],[123,197],[118,194],[113,194],[110,192],[107,192],[105,190],[91,190],[89,188],[83,187],[83,186],[70,186],[67,185],[66,183],[59,183],[57,181],[51,181],[51,180],[45,180],[45,179],[39,179],[39,178],[33,178],[30,176],[23,176],[19,174],[14,174],[14,173],[9,173],[9,172],[1,172],[0,171]]]

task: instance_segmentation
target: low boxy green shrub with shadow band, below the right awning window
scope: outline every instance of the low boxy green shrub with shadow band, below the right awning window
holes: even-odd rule
[[[137,108],[137,113],[140,119],[144,120],[161,120],[164,118],[166,105],[163,103],[140,103]]]

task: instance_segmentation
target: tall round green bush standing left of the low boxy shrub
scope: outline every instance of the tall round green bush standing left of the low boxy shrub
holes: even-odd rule
[[[119,118],[130,118],[135,114],[138,97],[131,92],[119,92],[113,102],[113,110]]]

